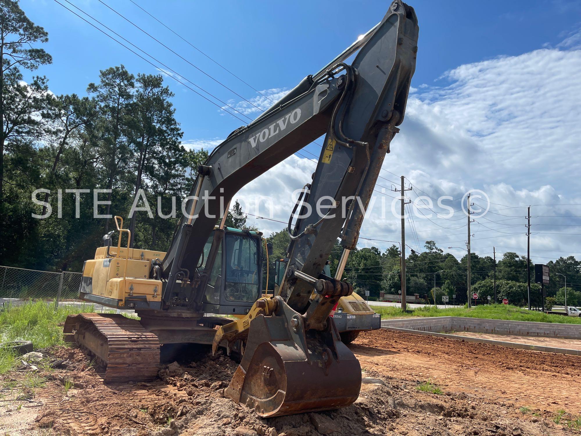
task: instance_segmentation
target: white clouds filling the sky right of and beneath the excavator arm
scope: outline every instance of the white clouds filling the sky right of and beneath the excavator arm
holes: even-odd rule
[[[555,48],[461,65],[445,72],[438,79],[439,86],[422,84],[413,89],[401,133],[392,142],[392,152],[386,156],[383,168],[405,175],[414,185],[414,191],[407,192],[410,199],[424,194],[434,198],[449,195],[452,201],[444,204],[457,211],[450,219],[433,216],[428,220],[421,212],[429,216],[431,210],[422,209],[417,213],[419,217],[406,221],[407,242],[414,249],[426,240],[435,240],[444,250],[447,246],[464,246],[467,217],[461,212],[460,199],[467,190],[478,188],[493,204],[485,218],[472,223],[475,252],[492,255],[492,246],[497,246],[498,253],[526,253],[523,217],[527,205],[533,205],[533,261],[581,252],[575,236],[580,234],[581,227],[576,226],[581,225],[577,218],[581,206],[569,206],[581,203],[579,35],[579,31],[564,35],[564,41]],[[285,92],[284,88],[264,91],[273,100]],[[251,101],[261,109],[271,105],[262,97]],[[231,104],[242,113],[259,113],[247,102]],[[245,200],[245,210],[254,213],[253,197],[272,195],[272,218],[286,223],[293,206],[290,194],[310,181],[313,170],[310,159],[293,155],[243,188],[235,198]],[[376,190],[383,190],[379,185],[388,190],[392,184],[399,187],[399,177],[394,174],[382,171],[381,176],[388,180],[379,178]],[[385,193],[397,196],[395,192]],[[382,199],[389,209],[392,198],[376,194],[376,205],[381,205]],[[365,237],[399,240],[399,219],[382,217],[379,209],[368,213],[360,246],[391,245]],[[445,212],[437,206],[432,209]],[[257,215],[268,216],[269,210],[259,210]],[[255,223],[267,234],[285,226],[267,220]],[[464,255],[461,249],[450,251]]]

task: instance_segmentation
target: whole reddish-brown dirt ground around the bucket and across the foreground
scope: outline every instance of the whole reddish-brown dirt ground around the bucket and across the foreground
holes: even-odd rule
[[[351,345],[363,370],[356,403],[332,412],[260,419],[221,396],[236,363],[207,349],[164,366],[152,383],[102,383],[79,349],[28,395],[2,391],[2,435],[561,435],[555,411],[579,413],[581,358],[386,330]],[[23,380],[27,370],[4,377]],[[441,394],[419,391],[426,380]],[[2,384],[0,384],[2,385]],[[10,401],[20,396],[19,401]],[[519,410],[526,406],[530,409]]]

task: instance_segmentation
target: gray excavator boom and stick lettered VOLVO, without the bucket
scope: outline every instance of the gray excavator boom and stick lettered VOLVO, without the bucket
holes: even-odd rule
[[[403,121],[417,37],[414,10],[394,1],[383,20],[360,40],[211,152],[198,169],[184,208],[186,215],[159,265],[162,299],[167,306],[202,308],[209,271],[223,237],[221,228],[214,232],[205,268],[200,269],[198,263],[232,197],[254,178],[325,135],[301,209],[315,211],[321,199],[327,199],[322,205],[329,213],[324,219],[311,213],[297,220],[289,246],[288,280],[281,285],[281,297],[290,307],[302,313],[309,307],[309,326],[324,327],[338,295],[311,302],[313,283],[337,237],[346,250],[357,244],[383,158],[398,131],[396,126]],[[351,65],[344,62],[357,51]],[[336,285],[333,279],[330,283]]]

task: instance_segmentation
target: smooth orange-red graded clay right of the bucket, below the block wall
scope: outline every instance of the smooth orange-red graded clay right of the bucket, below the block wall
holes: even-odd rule
[[[383,376],[429,378],[444,391],[581,414],[581,356],[389,330],[362,333],[351,349],[363,369]]]

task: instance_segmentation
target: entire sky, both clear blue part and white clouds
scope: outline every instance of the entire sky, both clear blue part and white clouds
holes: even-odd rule
[[[251,118],[259,114],[97,0],[70,1],[242,113]],[[261,95],[130,1],[103,1],[243,98],[266,106]],[[306,1],[135,2],[272,99],[307,74],[317,72],[379,22],[389,6],[386,1],[365,1],[356,6],[353,2]],[[581,219],[576,218],[581,216],[581,184],[575,175],[581,170],[581,3],[409,3],[416,10],[420,29],[417,69],[406,120],[383,166],[386,171],[382,176],[387,180],[379,179],[378,183],[389,189],[392,181],[399,180],[388,171],[407,176],[417,187],[410,193],[411,200],[422,192],[435,198],[450,195],[455,200],[469,188],[487,192],[496,203],[490,208],[496,213],[472,225],[473,249],[485,255],[492,251],[492,245],[523,252],[526,230],[522,216],[526,209],[522,206],[553,205],[532,209],[538,216],[532,222],[539,224],[532,237],[536,262],[546,256],[581,251]],[[53,0],[21,0],[21,7],[49,33],[44,48],[53,56],[53,64],[42,67],[39,73],[49,77],[56,94],[84,95],[87,84],[98,80],[100,69],[120,63],[135,74],[157,72]],[[189,146],[211,148],[242,124],[168,76],[166,83],[175,92],[176,116]],[[312,158],[309,152],[318,155],[319,149],[310,145],[303,152]],[[239,197],[268,195],[269,191],[280,196],[289,187],[292,191],[310,179],[313,166],[309,159],[292,156],[242,190]],[[450,204],[459,209],[459,201]],[[272,212],[272,217],[286,221],[290,201],[271,209],[267,212]],[[439,210],[436,206],[433,209]],[[414,249],[426,239],[436,240],[444,249],[463,246],[465,235],[461,232],[465,233],[465,228],[458,226],[464,221],[460,215],[410,220],[408,241],[414,241],[410,242]],[[260,220],[257,224],[267,232],[282,227],[275,221]],[[398,226],[397,220],[371,214],[362,236],[390,240],[396,238]],[[382,248],[390,245],[368,243]],[[365,244],[362,240],[361,245]],[[462,255],[460,249],[453,252]]]

